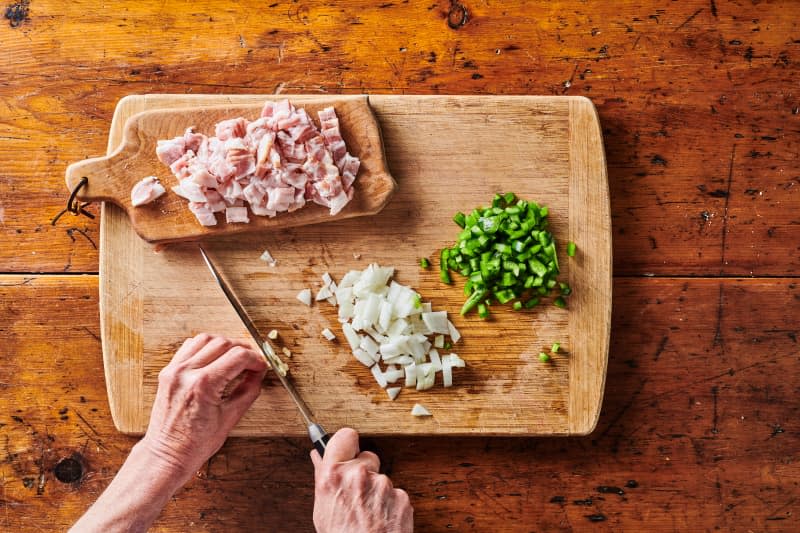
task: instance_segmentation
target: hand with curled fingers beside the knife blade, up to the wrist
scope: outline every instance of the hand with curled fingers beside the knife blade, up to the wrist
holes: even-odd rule
[[[186,339],[158,375],[147,433],[139,446],[186,482],[217,450],[261,392],[264,356],[202,333]]]

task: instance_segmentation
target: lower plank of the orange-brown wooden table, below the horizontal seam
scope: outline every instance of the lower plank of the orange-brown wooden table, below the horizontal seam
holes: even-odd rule
[[[618,278],[614,294],[592,435],[372,440],[418,531],[800,527],[797,280]],[[97,278],[0,276],[0,302],[0,529],[64,530],[135,441],[99,379]],[[65,458],[78,481],[56,478]],[[232,438],[153,531],[310,532],[311,498],[306,438]]]

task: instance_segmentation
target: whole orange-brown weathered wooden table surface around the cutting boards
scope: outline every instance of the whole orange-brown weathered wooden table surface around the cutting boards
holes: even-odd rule
[[[157,92],[591,98],[614,234],[597,430],[377,439],[386,469],[419,531],[800,528],[797,2],[3,5],[0,530],[65,529],[135,442],[106,400],[97,221],[49,222],[117,100]],[[307,455],[233,439],[154,530],[311,531]]]

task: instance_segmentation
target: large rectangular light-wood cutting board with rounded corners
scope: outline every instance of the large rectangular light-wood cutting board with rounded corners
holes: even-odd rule
[[[260,103],[258,96],[145,95],[120,101],[109,152],[127,117],[148,109]],[[314,97],[318,99],[318,97]],[[290,96],[302,105],[303,96]],[[370,96],[398,190],[369,217],[228,237],[206,244],[213,259],[266,333],[280,332],[297,388],[329,431],[365,435],[582,435],[597,422],[605,384],[611,320],[611,223],[600,125],[580,97]],[[574,288],[569,309],[552,305],[517,313],[499,306],[492,320],[458,316],[463,283],[422,270],[451,243],[453,213],[486,204],[498,191],[546,204],[559,243],[562,279]],[[131,229],[124,211],[104,205],[101,223],[101,321],[106,382],[114,422],[142,433],[159,370],[188,336],[209,331],[247,339],[195,245],[157,251]],[[567,260],[568,240],[578,246]],[[269,249],[276,267],[259,260]],[[392,402],[350,354],[327,303],[295,299],[320,276],[339,279],[370,262],[392,265],[398,282],[446,309],[464,338],[467,361],[455,386],[404,389]],[[438,259],[434,264],[438,264]],[[458,276],[455,276],[456,279]],[[330,327],[340,341],[320,332]],[[538,353],[560,342],[549,364]],[[440,378],[439,378],[440,379]],[[433,413],[410,415],[415,403]],[[277,380],[263,392],[236,435],[299,436],[305,427]]]

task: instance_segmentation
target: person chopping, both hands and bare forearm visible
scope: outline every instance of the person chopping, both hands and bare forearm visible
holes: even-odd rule
[[[187,339],[158,376],[145,436],[103,494],[70,531],[146,531],[167,501],[225,442],[261,393],[268,366],[248,345],[218,335]],[[413,530],[408,494],[379,474],[343,428],[314,464],[314,526],[319,533]]]

